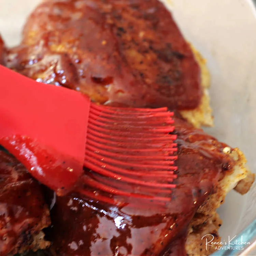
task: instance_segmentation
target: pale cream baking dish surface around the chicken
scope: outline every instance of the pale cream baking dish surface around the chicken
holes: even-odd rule
[[[0,31],[8,45],[19,41],[26,16],[40,0],[2,0]],[[207,132],[239,147],[255,172],[256,160],[256,18],[251,0],[165,0],[185,37],[207,59],[215,127]],[[256,186],[240,196],[234,191],[219,209],[224,240],[241,233],[256,218]],[[244,233],[245,234],[245,233]],[[247,238],[249,239],[249,238]],[[250,242],[251,245],[253,241]],[[232,253],[235,250],[233,250]],[[247,251],[248,255],[256,252]],[[217,251],[215,255],[221,255]],[[236,252],[238,253],[238,252]],[[239,252],[240,253],[240,252]],[[231,255],[231,254],[226,254]],[[236,255],[236,254],[234,254]],[[243,254],[244,255],[244,254]]]

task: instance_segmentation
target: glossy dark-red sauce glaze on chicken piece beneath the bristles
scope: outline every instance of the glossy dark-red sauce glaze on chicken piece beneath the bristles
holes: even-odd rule
[[[178,178],[171,201],[164,207],[148,201],[117,207],[79,194],[57,197],[50,231],[57,255],[186,255],[188,224],[218,181],[233,171],[234,161],[223,153],[226,144],[202,130],[178,118],[175,127]]]

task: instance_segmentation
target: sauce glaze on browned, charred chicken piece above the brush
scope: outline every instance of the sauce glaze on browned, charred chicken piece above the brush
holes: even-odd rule
[[[190,46],[157,0],[44,1],[6,65],[102,104],[194,109],[202,96]]]

